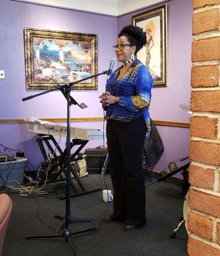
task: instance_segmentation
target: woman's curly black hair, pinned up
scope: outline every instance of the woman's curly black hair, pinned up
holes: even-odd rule
[[[133,25],[128,25],[122,28],[118,37],[126,36],[131,45],[136,46],[135,54],[142,49],[143,45],[147,44],[146,33],[143,29]]]

